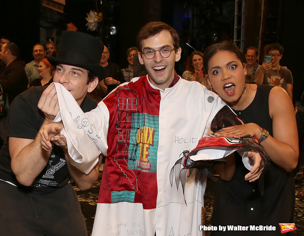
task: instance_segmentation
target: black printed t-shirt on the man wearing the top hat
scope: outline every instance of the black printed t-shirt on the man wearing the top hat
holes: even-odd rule
[[[35,139],[44,122],[44,114],[37,107],[39,99],[47,86],[33,87],[21,93],[12,102],[9,110],[9,137]],[[84,112],[96,107],[96,102],[86,97],[80,106]],[[0,150],[0,179],[14,183],[40,194],[55,191],[70,180],[63,149],[54,145],[49,162],[29,187],[18,183],[11,168],[9,144],[5,142]]]

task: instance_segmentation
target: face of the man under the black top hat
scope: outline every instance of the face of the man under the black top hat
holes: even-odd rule
[[[53,82],[60,83],[66,88],[80,105],[87,92],[92,92],[97,86],[98,79],[88,82],[88,71],[72,65],[58,64],[56,66]]]

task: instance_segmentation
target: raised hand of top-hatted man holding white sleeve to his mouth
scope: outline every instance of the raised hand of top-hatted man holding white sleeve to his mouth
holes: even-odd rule
[[[59,112],[59,104],[55,85],[51,84],[43,92],[38,103],[38,108],[44,113],[47,122],[54,121],[56,115]]]

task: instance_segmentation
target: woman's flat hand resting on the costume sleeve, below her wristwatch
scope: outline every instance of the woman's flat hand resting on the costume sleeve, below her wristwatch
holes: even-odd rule
[[[262,128],[254,123],[222,128],[223,131],[215,133],[217,137],[241,138],[245,135],[255,136],[257,139],[262,135]]]

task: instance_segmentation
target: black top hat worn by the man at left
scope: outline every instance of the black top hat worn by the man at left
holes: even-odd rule
[[[104,46],[96,37],[78,31],[64,31],[61,34],[56,57],[47,56],[52,64],[78,66],[105,77],[104,68],[99,65]]]

